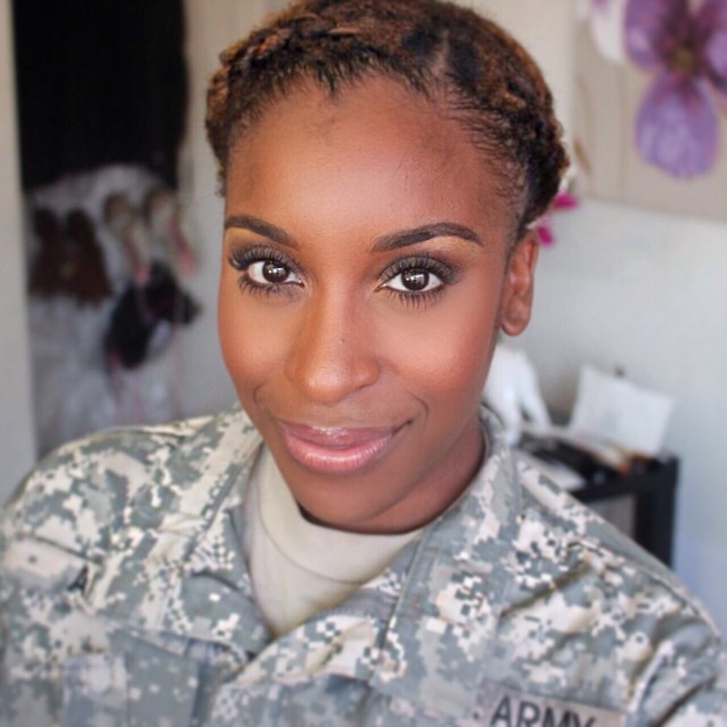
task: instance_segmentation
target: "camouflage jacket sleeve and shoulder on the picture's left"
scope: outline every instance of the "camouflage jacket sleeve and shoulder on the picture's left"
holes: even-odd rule
[[[0,513],[0,724],[56,723],[63,663],[105,646],[74,591],[102,562],[151,452],[130,432],[64,445]]]

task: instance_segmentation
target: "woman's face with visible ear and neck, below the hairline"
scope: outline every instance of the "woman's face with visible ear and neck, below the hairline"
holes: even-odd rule
[[[231,378],[314,519],[402,532],[481,462],[498,328],[528,322],[536,243],[465,129],[372,79],[312,85],[231,151],[219,330]]]

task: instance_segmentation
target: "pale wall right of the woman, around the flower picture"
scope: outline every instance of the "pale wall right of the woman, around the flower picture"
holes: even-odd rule
[[[568,127],[573,0],[480,0],[543,66]],[[725,198],[727,199],[727,198]],[[567,410],[578,370],[620,366],[676,400],[667,448],[681,458],[676,572],[727,633],[727,225],[585,200],[556,215],[535,316],[519,341],[543,394]]]

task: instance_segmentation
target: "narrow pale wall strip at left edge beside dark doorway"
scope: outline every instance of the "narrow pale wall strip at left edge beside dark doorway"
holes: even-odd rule
[[[35,458],[10,0],[0,0],[0,502]]]

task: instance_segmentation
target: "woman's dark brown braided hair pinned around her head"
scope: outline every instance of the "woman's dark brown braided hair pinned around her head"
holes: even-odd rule
[[[224,187],[231,146],[293,86],[335,97],[372,75],[444,107],[495,160],[517,237],[567,167],[551,91],[511,35],[442,0],[298,0],[223,51],[207,91],[207,137]]]

